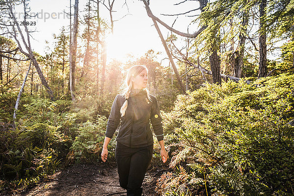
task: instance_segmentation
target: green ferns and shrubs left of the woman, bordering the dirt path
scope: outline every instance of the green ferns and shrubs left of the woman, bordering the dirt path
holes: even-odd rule
[[[11,98],[12,103],[16,97],[12,93],[2,95],[3,100]],[[71,162],[97,163],[106,117],[97,115],[95,105],[91,107],[93,99],[72,105],[69,100],[50,101],[25,95],[21,101],[15,124],[6,119],[5,123],[0,122],[1,190],[36,184]],[[11,111],[12,117],[13,108]],[[114,145],[112,141],[110,160],[114,157]]]

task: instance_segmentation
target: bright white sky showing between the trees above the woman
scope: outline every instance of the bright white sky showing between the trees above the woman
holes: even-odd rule
[[[79,11],[85,9],[85,4],[88,0],[79,1]],[[107,0],[106,0],[107,1]],[[189,11],[191,7],[198,7],[197,1],[187,1],[180,5],[174,6],[178,0],[150,0],[150,8],[155,16],[158,16],[168,25],[172,25],[176,19],[175,16],[162,16],[160,14],[177,14]],[[74,0],[72,0],[72,4]],[[161,44],[161,40],[157,34],[152,20],[147,16],[144,3],[141,0],[127,0],[127,7],[122,5],[124,0],[116,0],[114,4],[113,19],[118,20],[114,24],[114,35],[110,37],[108,43],[108,59],[117,58],[124,61],[126,54],[131,53],[135,57],[143,56],[147,50],[154,49],[161,51],[162,55],[158,60],[166,58],[167,55]],[[69,19],[65,12],[69,13],[69,0],[30,0],[30,13],[39,14],[39,19],[35,25],[38,32],[32,34],[34,40],[31,40],[31,45],[34,51],[44,55],[46,53],[45,40],[49,41],[49,47],[53,45],[53,33],[58,34],[62,26],[69,25]],[[73,9],[72,9],[73,12]],[[85,12],[79,12],[79,20],[83,18]],[[196,14],[196,12],[191,15]],[[100,17],[109,21],[108,10],[100,5]],[[180,31],[187,31],[187,26],[195,17],[179,17],[174,24],[174,28]],[[32,20],[32,19],[31,19]],[[160,26],[160,25],[159,25]],[[168,31],[165,27],[161,27],[162,33],[167,38]],[[196,31],[196,25],[191,25],[189,32]]]

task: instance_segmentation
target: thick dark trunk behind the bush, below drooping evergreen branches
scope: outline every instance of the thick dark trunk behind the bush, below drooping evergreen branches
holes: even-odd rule
[[[212,46],[211,51],[212,53],[209,56],[209,61],[213,83],[221,84],[220,57],[218,56],[218,52],[215,45]]]

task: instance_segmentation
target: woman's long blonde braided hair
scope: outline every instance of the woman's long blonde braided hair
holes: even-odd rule
[[[126,74],[125,80],[124,80],[123,85],[121,87],[121,89],[122,89],[121,94],[124,95],[124,97],[125,97],[125,101],[123,103],[123,106],[121,107],[122,117],[125,115],[125,111],[127,108],[127,100],[130,96],[131,89],[133,87],[132,77],[136,77],[143,70],[146,70],[148,73],[148,69],[144,65],[135,65],[135,66],[131,67]],[[147,93],[147,98],[151,101],[149,91],[147,90],[147,88],[145,88],[145,90]]]

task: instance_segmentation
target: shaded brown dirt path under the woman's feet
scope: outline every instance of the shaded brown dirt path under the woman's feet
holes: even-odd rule
[[[161,169],[153,168],[147,172],[143,182],[145,196],[159,196],[155,186],[165,171]],[[114,166],[72,165],[25,191],[16,190],[2,196],[126,196],[126,191],[119,186]]]

